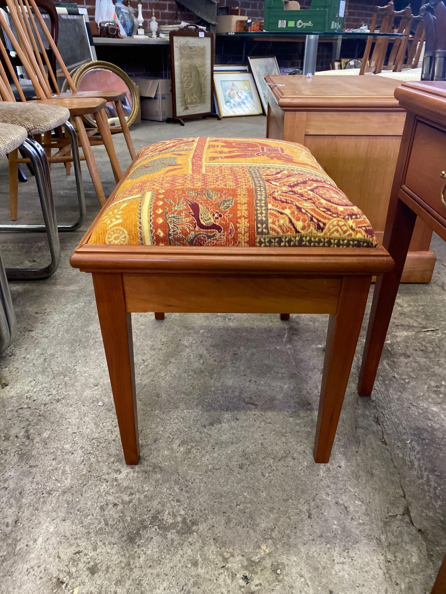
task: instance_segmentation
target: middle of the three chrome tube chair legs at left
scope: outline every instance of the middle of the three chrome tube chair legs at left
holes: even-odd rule
[[[29,157],[36,177],[37,191],[39,192],[40,205],[45,225],[0,225],[0,231],[24,231],[34,232],[44,228],[48,236],[51,263],[45,268],[7,268],[7,278],[21,280],[47,279],[53,274],[61,260],[61,248],[57,230],[56,213],[51,191],[51,180],[49,179],[48,160],[45,151],[39,143],[32,138],[22,144],[21,149]]]

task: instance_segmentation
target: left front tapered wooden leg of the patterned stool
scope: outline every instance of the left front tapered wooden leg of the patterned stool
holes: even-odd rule
[[[121,274],[93,273],[96,306],[126,464],[139,462],[131,314]]]

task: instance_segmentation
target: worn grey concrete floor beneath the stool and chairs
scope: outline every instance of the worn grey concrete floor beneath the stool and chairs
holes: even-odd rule
[[[144,122],[132,134],[137,148],[262,137],[265,118]],[[95,154],[109,194],[105,150]],[[98,204],[83,169],[90,222]],[[4,159],[1,179],[7,220]],[[54,166],[52,179],[67,222],[73,175]],[[39,219],[32,180],[19,212]],[[446,552],[445,244],[434,238],[430,285],[401,286],[373,396],[360,400],[364,323],[328,465],[312,457],[325,316],[133,315],[142,457],[128,467],[92,281],[68,263],[86,227],[62,235],[51,279],[11,285],[0,592],[430,592]],[[6,264],[45,258],[43,235],[0,241]]]

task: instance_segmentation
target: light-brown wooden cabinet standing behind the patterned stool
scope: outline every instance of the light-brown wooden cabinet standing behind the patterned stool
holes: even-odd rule
[[[304,144],[382,239],[406,112],[385,77],[268,76],[266,136]],[[432,230],[417,221],[402,282],[429,283]]]

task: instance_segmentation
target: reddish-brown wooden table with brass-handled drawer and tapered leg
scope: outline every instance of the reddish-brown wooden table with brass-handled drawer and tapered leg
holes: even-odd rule
[[[417,217],[446,241],[446,83],[404,83],[395,97],[407,110],[384,233],[395,268],[375,285],[360,396],[372,393]]]

